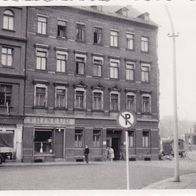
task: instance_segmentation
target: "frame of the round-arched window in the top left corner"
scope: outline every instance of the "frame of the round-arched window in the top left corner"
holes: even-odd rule
[[[10,12],[10,13],[6,13],[6,12]],[[7,25],[5,24],[6,19],[7,19]],[[10,23],[10,20],[12,21],[12,23]],[[3,12],[3,30],[14,31],[14,29],[15,29],[15,14],[12,10],[6,9]]]

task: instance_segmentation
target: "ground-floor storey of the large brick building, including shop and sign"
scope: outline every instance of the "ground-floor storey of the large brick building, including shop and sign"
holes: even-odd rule
[[[89,159],[102,161],[106,148],[114,149],[114,159],[125,159],[125,132],[114,119],[38,117],[25,118],[23,161],[81,161],[85,145]],[[129,158],[158,159],[157,122],[138,121],[129,131]]]

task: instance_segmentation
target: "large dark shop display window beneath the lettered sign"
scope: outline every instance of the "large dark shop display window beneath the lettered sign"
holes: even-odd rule
[[[53,131],[35,130],[34,135],[34,153],[51,154],[53,153]]]

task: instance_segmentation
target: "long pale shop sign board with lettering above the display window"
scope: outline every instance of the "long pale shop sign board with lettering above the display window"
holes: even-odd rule
[[[74,125],[75,120],[69,118],[47,118],[47,117],[27,117],[25,123],[30,124],[61,124],[61,125]]]

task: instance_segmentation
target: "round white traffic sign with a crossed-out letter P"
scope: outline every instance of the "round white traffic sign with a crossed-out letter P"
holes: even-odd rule
[[[131,128],[135,125],[135,116],[131,112],[121,112],[118,115],[118,123],[123,128]]]

